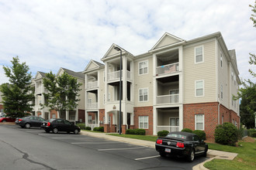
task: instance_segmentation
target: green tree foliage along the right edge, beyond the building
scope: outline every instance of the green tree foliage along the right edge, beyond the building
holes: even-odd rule
[[[251,20],[254,22],[254,27],[256,27],[256,1],[254,5],[249,5],[252,9],[253,14],[251,15]],[[255,54],[249,53],[250,59],[249,63],[251,65],[256,65],[256,56]],[[255,77],[256,74],[254,70],[249,69],[251,76]],[[240,103],[240,119],[241,123],[244,124],[247,128],[254,128],[255,117],[256,117],[256,84],[250,79],[244,80],[242,82],[243,87],[240,88],[238,97],[234,99],[241,98]]]

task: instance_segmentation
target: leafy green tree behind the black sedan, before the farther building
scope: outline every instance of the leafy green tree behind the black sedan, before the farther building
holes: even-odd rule
[[[51,110],[57,110],[60,116],[61,110],[74,110],[78,106],[78,92],[81,83],[73,76],[63,73],[61,76],[55,76],[54,73],[46,74],[43,79],[43,86],[48,90],[43,93],[46,103],[43,107],[50,107]]]

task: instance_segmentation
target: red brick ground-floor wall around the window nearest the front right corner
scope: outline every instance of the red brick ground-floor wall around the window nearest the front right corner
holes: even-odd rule
[[[183,128],[195,130],[195,114],[204,114],[206,138],[214,138],[213,134],[218,124],[218,103],[184,104]]]

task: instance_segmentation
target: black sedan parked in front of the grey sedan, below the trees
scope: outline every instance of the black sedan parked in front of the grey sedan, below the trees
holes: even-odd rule
[[[48,121],[44,121],[41,128],[43,128],[47,133],[53,131],[54,134],[57,134],[58,131],[67,131],[67,133],[72,131],[74,134],[78,134],[81,131],[78,126],[64,119],[50,119]]]

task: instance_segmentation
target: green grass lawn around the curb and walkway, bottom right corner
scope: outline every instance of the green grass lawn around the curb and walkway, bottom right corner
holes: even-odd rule
[[[219,151],[230,151],[237,153],[237,157],[232,161],[223,159],[213,159],[211,162],[206,162],[204,165],[210,170],[215,169],[255,169],[256,167],[256,142],[239,142],[239,147],[232,147],[219,144],[208,144],[209,149]]]

